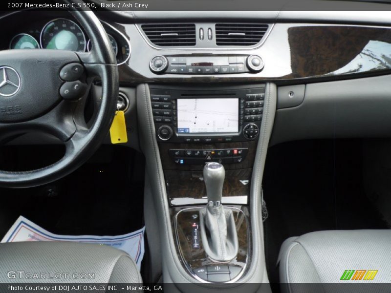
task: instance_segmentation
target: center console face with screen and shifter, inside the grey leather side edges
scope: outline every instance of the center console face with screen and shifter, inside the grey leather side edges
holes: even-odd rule
[[[198,281],[236,281],[246,271],[252,253],[247,205],[261,136],[265,84],[150,85],[150,99],[178,257]],[[206,205],[211,204],[213,188],[208,191],[206,163],[224,170],[216,206],[209,209]],[[220,217],[213,224],[215,213],[227,218]],[[215,231],[210,227],[214,225],[222,230]],[[216,258],[227,255],[216,252],[225,247],[225,241],[216,243],[219,239],[237,243],[236,250],[232,243],[227,245],[230,259]]]

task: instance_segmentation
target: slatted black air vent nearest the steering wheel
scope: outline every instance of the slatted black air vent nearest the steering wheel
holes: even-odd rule
[[[195,46],[195,24],[143,24],[148,39],[159,46]]]

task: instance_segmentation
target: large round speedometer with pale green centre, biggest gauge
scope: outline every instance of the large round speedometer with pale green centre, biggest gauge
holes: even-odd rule
[[[41,32],[44,49],[86,51],[86,36],[74,21],[56,19],[49,21]]]

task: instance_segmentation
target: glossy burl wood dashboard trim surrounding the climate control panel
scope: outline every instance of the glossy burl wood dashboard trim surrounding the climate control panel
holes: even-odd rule
[[[261,20],[259,21],[262,22]],[[391,72],[391,28],[365,25],[276,23],[258,48],[248,50],[157,50],[148,45],[135,25],[124,25],[132,46],[129,65],[119,66],[120,82],[132,83],[259,83],[264,81],[322,81],[383,75]],[[185,75],[150,71],[156,55],[261,56],[259,73]]]

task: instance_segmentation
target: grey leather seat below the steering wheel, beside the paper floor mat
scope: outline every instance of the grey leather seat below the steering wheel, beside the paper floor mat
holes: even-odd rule
[[[0,244],[0,282],[142,283],[142,279],[129,254],[106,245],[14,242]]]

